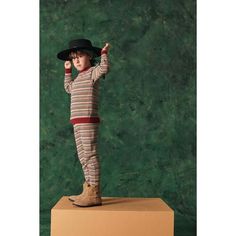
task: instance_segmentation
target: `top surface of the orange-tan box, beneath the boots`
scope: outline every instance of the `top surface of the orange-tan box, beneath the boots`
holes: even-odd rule
[[[102,197],[101,206],[78,207],[72,204],[68,196],[62,197],[52,210],[77,211],[171,211],[173,210],[161,198],[122,198]]]

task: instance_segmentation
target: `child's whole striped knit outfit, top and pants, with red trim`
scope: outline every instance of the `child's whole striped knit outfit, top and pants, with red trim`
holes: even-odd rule
[[[100,65],[80,72],[74,80],[71,78],[71,71],[66,71],[64,80],[64,88],[71,94],[70,121],[74,127],[78,158],[85,180],[93,185],[100,183],[97,150],[99,78],[107,72],[107,53],[102,53]]]

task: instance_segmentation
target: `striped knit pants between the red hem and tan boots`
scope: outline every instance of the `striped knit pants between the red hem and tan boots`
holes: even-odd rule
[[[99,123],[75,124],[74,135],[79,161],[87,183],[100,184],[100,163],[97,153]]]

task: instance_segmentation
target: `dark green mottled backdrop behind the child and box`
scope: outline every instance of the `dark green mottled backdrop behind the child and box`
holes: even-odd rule
[[[69,123],[64,66],[68,41],[111,44],[100,85],[103,196],[161,197],[175,235],[196,235],[196,3],[194,0],[41,0],[41,235],[50,209],[82,190]]]

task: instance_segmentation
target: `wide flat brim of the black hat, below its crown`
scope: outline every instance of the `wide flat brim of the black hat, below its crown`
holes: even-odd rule
[[[75,47],[75,48],[69,48],[66,50],[63,50],[61,52],[59,52],[57,54],[57,58],[63,61],[70,61],[71,59],[69,58],[69,55],[71,52],[75,52],[75,51],[79,51],[79,50],[87,50],[87,51],[91,51],[93,53],[93,57],[100,57],[101,56],[101,48],[97,48],[97,47]]]

